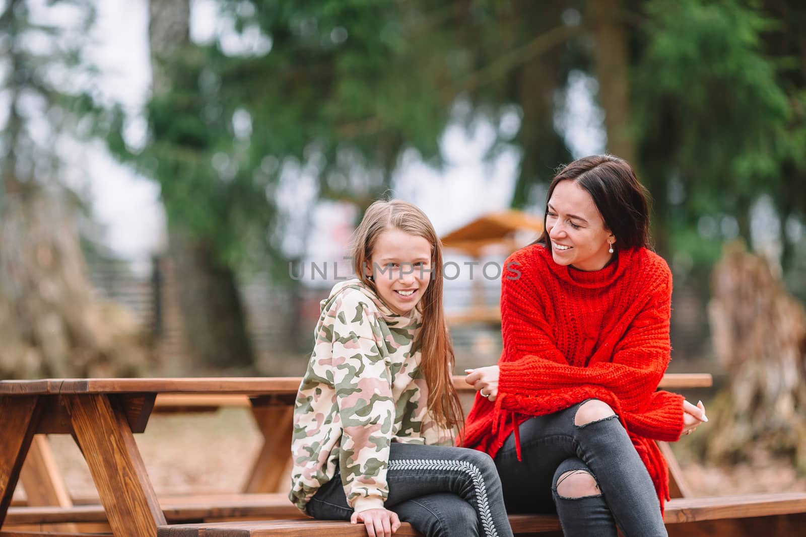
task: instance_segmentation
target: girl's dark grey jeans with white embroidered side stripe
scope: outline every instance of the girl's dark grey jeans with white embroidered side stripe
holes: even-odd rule
[[[492,458],[475,449],[393,442],[384,502],[426,537],[512,537]],[[317,490],[308,514],[349,520],[353,510],[336,475]]]

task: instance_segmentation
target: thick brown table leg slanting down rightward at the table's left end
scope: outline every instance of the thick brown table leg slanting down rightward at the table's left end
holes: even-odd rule
[[[64,397],[115,537],[156,537],[165,517],[125,412],[106,395]]]

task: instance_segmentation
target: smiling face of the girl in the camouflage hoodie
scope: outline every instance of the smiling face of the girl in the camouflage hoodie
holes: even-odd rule
[[[384,303],[398,315],[417,306],[431,279],[431,244],[400,229],[378,235],[369,259],[375,287]]]

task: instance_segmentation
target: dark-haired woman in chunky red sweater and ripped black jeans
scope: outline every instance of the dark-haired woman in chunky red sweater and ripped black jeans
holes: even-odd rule
[[[509,512],[556,510],[567,536],[667,535],[654,440],[707,419],[702,403],[656,391],[671,272],[649,250],[645,189],[597,155],[564,167],[546,199],[541,238],[507,260],[501,359],[468,370],[479,393],[465,445],[495,457]]]

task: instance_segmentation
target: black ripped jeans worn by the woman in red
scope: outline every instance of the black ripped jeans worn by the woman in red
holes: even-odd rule
[[[521,423],[522,461],[514,435],[505,441],[495,461],[507,512],[556,512],[566,537],[616,537],[616,527],[625,537],[667,535],[652,479],[621,422],[614,415],[576,425],[584,403]],[[601,494],[559,496],[559,477],[573,470],[590,473]]]

